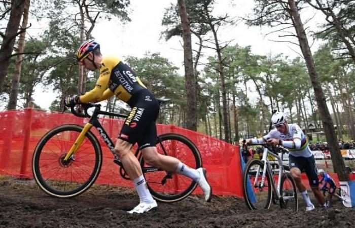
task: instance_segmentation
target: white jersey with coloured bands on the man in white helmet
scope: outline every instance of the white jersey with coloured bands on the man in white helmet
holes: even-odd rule
[[[311,157],[313,154],[308,147],[308,139],[304,135],[302,129],[297,124],[288,124],[289,132],[286,134],[282,134],[281,132],[277,131],[277,129],[271,130],[267,135],[263,136],[263,140],[266,142],[270,138],[279,139],[282,141],[293,141],[295,138],[301,139],[301,147],[299,149],[289,148],[290,155],[295,157]]]

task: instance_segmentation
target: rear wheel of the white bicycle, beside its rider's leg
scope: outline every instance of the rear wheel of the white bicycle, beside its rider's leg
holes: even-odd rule
[[[294,211],[298,210],[298,198],[297,198],[297,188],[295,180],[293,179],[290,173],[283,173],[280,183],[280,207],[283,209],[293,209]],[[287,184],[285,184],[287,183]],[[286,186],[284,189],[283,187]],[[293,199],[284,199],[283,197],[294,197]]]

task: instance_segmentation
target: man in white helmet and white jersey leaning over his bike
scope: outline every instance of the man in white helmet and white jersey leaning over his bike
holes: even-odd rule
[[[275,112],[271,117],[275,129],[258,139],[246,140],[247,144],[271,142],[274,146],[282,145],[290,150],[289,164],[290,173],[295,180],[298,190],[307,204],[306,211],[314,210],[307,188],[302,183],[301,172],[305,171],[309,185],[318,203],[326,207],[325,199],[318,187],[318,174],[315,160],[308,147],[308,139],[297,124],[289,124],[283,112]]]

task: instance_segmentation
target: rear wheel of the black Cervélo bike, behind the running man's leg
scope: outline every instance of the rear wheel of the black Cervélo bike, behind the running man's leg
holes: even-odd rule
[[[157,140],[157,150],[158,153],[164,154],[161,144],[165,148],[165,155],[175,157],[193,169],[202,167],[201,154],[187,137],[175,133],[160,135]],[[140,165],[142,169],[150,167],[145,164],[143,156],[140,156]],[[197,183],[188,177],[170,173],[171,176],[166,178],[167,174],[166,171],[144,172],[150,193],[160,202],[172,203],[183,200],[197,186]],[[164,178],[166,183],[163,183]]]

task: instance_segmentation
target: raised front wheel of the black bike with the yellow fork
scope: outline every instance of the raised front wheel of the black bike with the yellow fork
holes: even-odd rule
[[[58,198],[79,196],[98,177],[102,151],[97,138],[90,131],[73,158],[66,164],[62,161],[82,130],[83,127],[79,125],[58,126],[47,132],[35,147],[33,177],[48,195]]]

